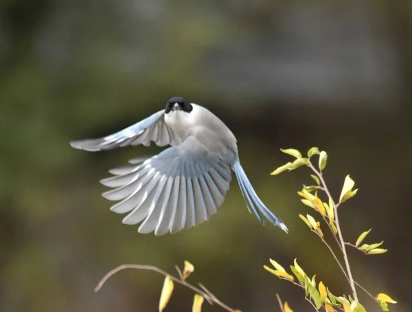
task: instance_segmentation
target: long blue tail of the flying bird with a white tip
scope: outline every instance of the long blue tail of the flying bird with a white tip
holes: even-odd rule
[[[242,191],[244,201],[246,201],[246,205],[249,209],[249,212],[251,212],[252,210],[255,216],[259,219],[259,221],[262,224],[264,224],[264,221],[260,213],[263,214],[263,216],[266,219],[268,219],[270,223],[272,223],[273,225],[277,225],[282,230],[284,230],[284,232],[287,233],[288,227],[284,225],[279,216],[277,216],[276,214],[271,212],[271,210],[268,210],[268,208],[266,208],[266,205],[262,203],[262,201],[256,194],[255,190],[253,190],[251,182],[247,178],[246,173],[244,173],[244,170],[238,160],[235,162],[235,164],[233,164],[233,171],[235,172],[236,177],[238,178],[240,190]]]

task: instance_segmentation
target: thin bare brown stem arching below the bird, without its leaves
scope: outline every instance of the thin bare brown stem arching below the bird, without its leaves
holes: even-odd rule
[[[189,282],[187,282],[186,280],[180,279],[180,278],[176,278],[174,276],[171,276],[170,274],[168,274],[168,272],[163,271],[162,269],[159,269],[158,267],[155,267],[153,265],[119,265],[119,267],[115,267],[115,269],[112,269],[111,271],[108,272],[108,274],[106,274],[102,280],[100,280],[98,286],[95,287],[95,291],[99,291],[102,286],[104,285],[104,283],[106,282],[106,280],[108,280],[108,278],[110,278],[111,276],[113,276],[113,274],[116,274],[118,271],[122,271],[123,269],[143,269],[143,270],[149,270],[149,271],[155,271],[163,276],[168,276],[171,280],[173,280],[174,282],[183,285],[189,289],[192,289],[192,291],[194,291],[195,293],[199,293],[200,295],[202,295],[208,302],[213,302],[215,304],[217,304],[219,307],[221,307],[222,309],[225,309],[226,311],[229,312],[236,312],[235,309],[231,309],[231,307],[228,307],[227,304],[221,302],[220,300],[218,300],[218,298],[216,298],[216,296],[214,296],[213,294],[209,294],[209,291],[204,291],[202,289],[199,289],[198,287],[190,284]]]

